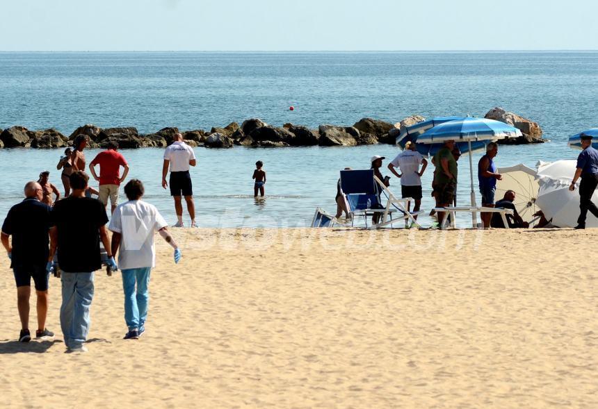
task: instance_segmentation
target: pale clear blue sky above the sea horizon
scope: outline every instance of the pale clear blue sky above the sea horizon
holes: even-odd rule
[[[0,51],[596,50],[595,0],[0,0]]]

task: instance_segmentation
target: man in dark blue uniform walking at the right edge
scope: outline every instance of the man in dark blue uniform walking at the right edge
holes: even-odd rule
[[[581,211],[576,229],[585,228],[585,217],[588,215],[588,210],[598,218],[598,208],[592,202],[592,194],[598,187],[598,151],[592,148],[590,135],[581,135],[581,147],[583,151],[577,158],[577,169],[569,186],[569,190],[573,192],[577,179],[581,177],[581,183],[579,183],[579,209]]]

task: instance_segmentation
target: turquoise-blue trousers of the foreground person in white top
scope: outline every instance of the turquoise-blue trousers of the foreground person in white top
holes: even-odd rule
[[[152,267],[122,270],[122,290],[124,290],[124,321],[129,331],[145,325],[147,302],[149,301],[149,272]],[[137,290],[135,285],[137,284]]]

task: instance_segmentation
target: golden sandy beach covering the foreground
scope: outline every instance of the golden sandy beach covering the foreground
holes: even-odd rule
[[[598,231],[175,230],[147,333],[96,275],[88,353],[15,342],[0,267],[6,408],[598,407]],[[34,298],[31,320],[35,322]],[[33,326],[33,325],[32,325]]]

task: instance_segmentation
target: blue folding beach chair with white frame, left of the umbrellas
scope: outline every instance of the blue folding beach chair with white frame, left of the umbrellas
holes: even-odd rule
[[[366,227],[368,226],[368,217],[376,213],[382,215],[386,213],[392,219],[393,210],[385,210],[385,206],[380,203],[373,169],[341,170],[341,192],[351,216],[351,226],[353,226],[356,216],[364,218]],[[368,201],[370,206],[368,206]]]

